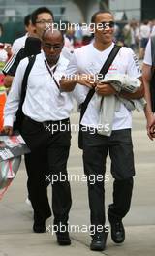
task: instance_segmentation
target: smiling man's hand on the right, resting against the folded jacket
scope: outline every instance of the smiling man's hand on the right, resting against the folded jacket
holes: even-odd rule
[[[109,96],[116,94],[116,90],[109,83],[97,83],[95,91],[97,94],[101,96]]]

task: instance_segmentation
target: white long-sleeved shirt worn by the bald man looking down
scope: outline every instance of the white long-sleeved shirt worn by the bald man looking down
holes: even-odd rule
[[[68,118],[73,109],[72,93],[60,92],[47,70],[45,59],[44,52],[36,56],[35,63],[28,77],[26,97],[22,107],[25,115],[38,122]],[[61,55],[54,73],[56,80],[60,80],[61,76],[64,75],[68,63],[69,60]],[[17,67],[16,76],[5,106],[5,126],[12,126],[16,117],[21,83],[27,64],[28,58],[24,58]],[[54,67],[50,69],[51,72]]]

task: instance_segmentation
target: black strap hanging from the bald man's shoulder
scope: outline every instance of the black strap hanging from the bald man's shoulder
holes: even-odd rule
[[[28,65],[26,67],[24,76],[23,76],[23,80],[22,80],[22,84],[21,84],[21,97],[20,97],[20,103],[19,103],[19,108],[22,107],[25,96],[26,96],[26,90],[27,90],[27,80],[28,80],[28,76],[30,74],[30,71],[33,67],[33,64],[36,60],[36,55],[33,56],[29,56],[28,57]]]

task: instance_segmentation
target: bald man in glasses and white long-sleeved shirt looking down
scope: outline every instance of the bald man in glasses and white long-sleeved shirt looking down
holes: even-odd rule
[[[70,94],[61,93],[57,82],[69,62],[60,54],[63,45],[64,39],[60,31],[45,31],[43,52],[36,56],[28,77],[22,107],[25,118],[21,135],[31,150],[31,153],[25,156],[25,164],[28,192],[34,209],[33,230],[36,233],[46,231],[46,220],[51,215],[47,199],[47,182],[51,181],[57,241],[60,245],[70,245],[67,227],[72,201],[66,166],[71,139],[69,116],[73,102]],[[7,134],[13,132],[21,83],[27,64],[27,58],[20,61],[8,95],[4,117],[4,131]],[[60,180],[61,175],[66,177],[63,182]],[[61,225],[66,227],[65,232],[61,232]]]

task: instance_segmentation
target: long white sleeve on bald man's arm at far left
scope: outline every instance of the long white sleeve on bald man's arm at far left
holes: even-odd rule
[[[27,64],[28,59],[24,59],[17,67],[16,76],[14,77],[4,109],[4,126],[13,127],[13,123],[16,120],[16,111],[18,109],[21,96],[21,84]]]

